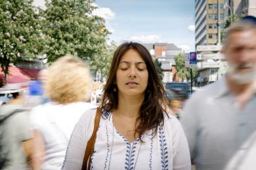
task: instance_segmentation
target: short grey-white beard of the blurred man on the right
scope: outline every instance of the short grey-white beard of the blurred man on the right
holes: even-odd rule
[[[239,71],[239,69],[247,68],[251,69],[251,71]],[[228,75],[232,80],[237,82],[238,84],[247,84],[253,82],[256,79],[256,67],[253,63],[247,64],[238,64],[238,65],[230,65],[230,69],[228,71]]]

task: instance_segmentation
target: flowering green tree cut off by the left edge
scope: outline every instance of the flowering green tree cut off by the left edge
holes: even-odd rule
[[[41,19],[32,0],[0,2],[0,64],[7,78],[10,63],[35,58],[45,44]]]

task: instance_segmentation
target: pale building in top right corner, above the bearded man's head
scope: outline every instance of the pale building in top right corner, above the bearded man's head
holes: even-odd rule
[[[237,14],[238,16],[256,16],[255,0],[230,0],[229,5],[232,14]]]

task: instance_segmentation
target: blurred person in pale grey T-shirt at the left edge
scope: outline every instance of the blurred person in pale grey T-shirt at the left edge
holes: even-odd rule
[[[29,111],[22,107],[22,89],[8,91],[13,99],[0,107],[1,154],[5,156],[0,169],[34,168],[32,130]]]

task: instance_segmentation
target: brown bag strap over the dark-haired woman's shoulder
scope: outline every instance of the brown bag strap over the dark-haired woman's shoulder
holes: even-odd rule
[[[96,116],[95,116],[95,127],[93,129],[93,135],[91,135],[90,140],[87,143],[86,149],[85,149],[85,156],[83,157],[83,166],[82,170],[87,170],[87,163],[89,159],[89,164],[88,164],[88,170],[90,169],[91,166],[91,155],[93,154],[93,150],[95,148],[95,140],[96,140],[96,132],[98,130],[98,125],[100,124],[100,115],[101,115],[101,108],[97,109]]]

